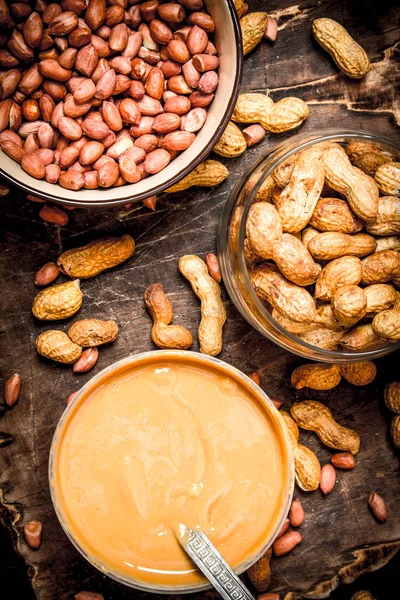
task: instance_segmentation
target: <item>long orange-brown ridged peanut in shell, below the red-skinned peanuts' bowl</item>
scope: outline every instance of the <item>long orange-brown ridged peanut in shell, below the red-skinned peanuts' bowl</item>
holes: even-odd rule
[[[88,279],[106,269],[112,269],[125,262],[135,252],[135,242],[130,235],[121,238],[104,238],[90,242],[81,248],[63,252],[57,266],[69,277]]]

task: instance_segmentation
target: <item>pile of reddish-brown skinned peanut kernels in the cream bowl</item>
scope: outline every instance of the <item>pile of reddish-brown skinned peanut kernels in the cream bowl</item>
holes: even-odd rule
[[[36,179],[108,188],[162,171],[218,86],[202,0],[0,0],[0,147]]]

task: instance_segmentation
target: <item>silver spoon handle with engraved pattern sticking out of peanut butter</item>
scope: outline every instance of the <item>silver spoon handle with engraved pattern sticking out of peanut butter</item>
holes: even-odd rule
[[[203,531],[190,529],[181,524],[175,531],[175,536],[222,598],[225,600],[255,600]]]

